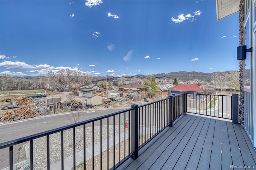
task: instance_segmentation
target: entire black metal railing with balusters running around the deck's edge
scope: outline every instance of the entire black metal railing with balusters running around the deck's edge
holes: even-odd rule
[[[202,102],[204,100],[207,101],[204,103]],[[224,117],[225,108],[228,111],[230,104],[227,104],[226,107],[223,107],[224,104],[222,104],[220,109],[220,103],[225,103],[229,100],[232,101],[232,115],[231,117],[228,117],[228,115]],[[35,143],[39,139],[46,143],[45,156],[42,158],[46,160],[46,163],[40,168],[54,169],[54,164],[56,163],[52,162],[53,157],[60,155],[57,163],[59,163],[58,168],[62,170],[66,167],[64,158],[68,156],[73,159],[71,166],[73,169],[76,169],[79,162],[83,164],[84,169],[94,169],[96,167],[100,167],[100,169],[115,169],[128,158],[138,158],[138,150],[164,128],[172,127],[173,121],[183,113],[220,117],[220,112],[216,111],[217,105],[218,111],[222,111],[221,118],[234,119],[234,110],[236,110],[236,105],[238,107],[238,96],[233,95],[231,98],[225,95],[194,96],[186,93],[170,96],[145,105],[131,105],[130,109],[95,119],[4,142],[0,144],[0,149],[9,148],[10,170],[13,169],[15,162],[13,147],[22,142],[29,144],[30,161],[28,166],[30,166],[31,170],[37,169],[38,161],[42,162],[42,160],[35,159],[37,157],[36,154],[38,154],[36,153],[38,149],[36,149]],[[74,113],[73,117],[75,116]],[[54,136],[59,139],[54,138]],[[51,145],[54,142],[56,143],[57,140],[60,140],[60,144],[57,145],[59,151],[55,154]],[[67,145],[70,151],[66,150]],[[79,156],[78,153],[82,153],[82,156]],[[82,157],[82,160],[80,157]]]

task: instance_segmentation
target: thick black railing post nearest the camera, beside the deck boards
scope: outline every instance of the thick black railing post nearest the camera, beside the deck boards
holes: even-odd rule
[[[134,154],[132,159],[138,158],[138,105],[131,105],[134,108],[131,113],[131,152]]]

